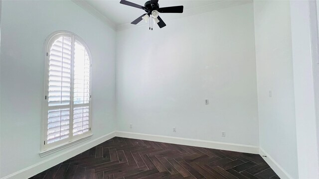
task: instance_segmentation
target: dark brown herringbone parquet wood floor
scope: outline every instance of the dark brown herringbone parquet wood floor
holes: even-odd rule
[[[30,179],[279,179],[256,154],[115,137]]]

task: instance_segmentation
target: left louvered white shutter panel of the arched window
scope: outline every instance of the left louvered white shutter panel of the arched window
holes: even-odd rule
[[[49,51],[47,143],[69,138],[71,37],[60,37]],[[66,106],[65,106],[66,105]]]

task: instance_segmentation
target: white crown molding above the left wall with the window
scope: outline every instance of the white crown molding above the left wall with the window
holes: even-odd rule
[[[105,15],[103,15],[101,12],[96,10],[94,7],[92,7],[90,4],[88,4],[85,0],[71,0],[78,6],[82,7],[84,10],[95,16],[96,18],[102,20],[102,22],[106,23],[110,28],[112,28],[114,31],[117,30],[116,24],[107,18]]]

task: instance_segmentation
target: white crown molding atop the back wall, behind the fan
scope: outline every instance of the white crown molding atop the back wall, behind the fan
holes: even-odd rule
[[[220,9],[225,9],[229,7],[244,5],[248,3],[253,3],[253,0],[219,0],[214,3],[211,3],[209,5],[202,5],[199,7],[194,7],[190,9],[184,9],[184,12],[176,18],[165,18],[165,21],[173,20],[173,19],[179,19],[187,16],[202,14],[210,11],[216,11]],[[139,23],[137,25],[132,25],[131,23],[121,24],[118,25],[116,28],[116,31],[122,31],[134,27],[140,27],[140,26],[148,26],[149,23]]]

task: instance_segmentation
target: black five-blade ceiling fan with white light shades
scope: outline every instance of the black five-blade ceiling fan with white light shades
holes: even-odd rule
[[[170,7],[160,7],[159,0],[149,0],[145,2],[144,6],[127,1],[127,0],[121,0],[121,4],[129,5],[132,7],[140,8],[145,10],[147,13],[141,15],[137,19],[135,19],[131,24],[138,24],[143,19],[147,22],[150,21],[150,30],[151,30],[151,24],[152,24],[152,30],[153,30],[153,23],[157,23],[160,28],[165,27],[166,24],[164,21],[160,18],[159,13],[183,13],[183,6],[170,6]],[[150,18],[151,17],[151,18]]]

